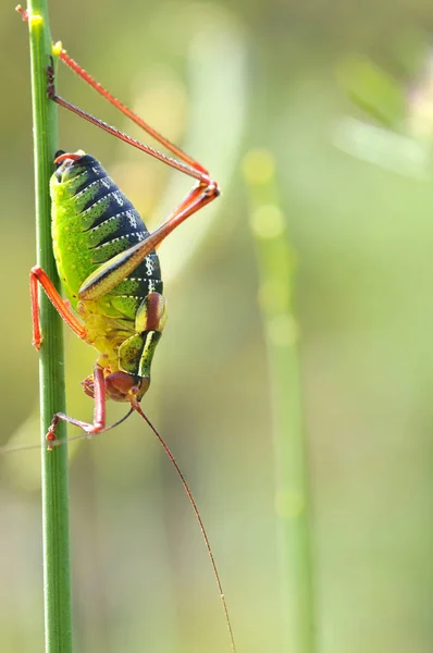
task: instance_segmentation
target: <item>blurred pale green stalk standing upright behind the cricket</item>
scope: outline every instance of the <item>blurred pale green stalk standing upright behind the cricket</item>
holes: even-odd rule
[[[250,151],[244,160],[256,239],[272,399],[275,513],[281,554],[283,651],[312,653],[313,594],[306,443],[293,311],[294,256],[281,209],[272,156]]]

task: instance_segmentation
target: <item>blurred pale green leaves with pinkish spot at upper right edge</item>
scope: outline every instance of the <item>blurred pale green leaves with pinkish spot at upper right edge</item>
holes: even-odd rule
[[[351,59],[341,67],[342,85],[367,116],[339,121],[337,147],[348,153],[407,176],[430,177],[432,168],[432,56],[418,79],[399,83],[367,59]]]

